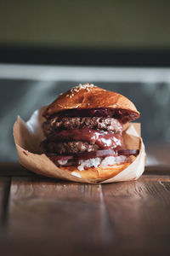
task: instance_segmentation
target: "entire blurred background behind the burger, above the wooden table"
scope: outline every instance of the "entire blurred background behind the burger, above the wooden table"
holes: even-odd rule
[[[131,99],[147,165],[170,165],[170,2],[0,1],[0,160],[17,161],[17,115],[79,83]]]

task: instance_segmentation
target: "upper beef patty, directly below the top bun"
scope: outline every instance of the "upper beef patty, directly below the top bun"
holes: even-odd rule
[[[99,129],[103,131],[122,132],[122,124],[114,118],[101,117],[59,117],[49,119],[42,124],[44,135],[48,137],[56,130],[74,130],[74,129]]]

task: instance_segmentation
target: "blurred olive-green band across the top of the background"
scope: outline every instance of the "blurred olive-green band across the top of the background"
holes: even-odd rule
[[[2,0],[1,44],[69,49],[169,49],[168,0]]]

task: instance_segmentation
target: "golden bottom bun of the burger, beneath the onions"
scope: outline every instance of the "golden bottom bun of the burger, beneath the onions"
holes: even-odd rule
[[[90,167],[83,171],[79,171],[77,169],[77,166],[59,166],[59,169],[69,172],[74,176],[82,177],[95,183],[101,182],[111,177],[115,177],[118,173],[126,169],[127,166],[129,166],[130,164],[131,163],[126,162],[119,165],[109,166],[106,168]]]

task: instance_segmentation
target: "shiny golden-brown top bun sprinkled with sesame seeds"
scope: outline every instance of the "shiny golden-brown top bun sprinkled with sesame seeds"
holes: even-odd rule
[[[94,84],[79,84],[71,90],[60,95],[46,109],[44,116],[49,117],[54,113],[72,108],[112,108],[123,109],[133,113],[139,118],[139,112],[133,102],[125,96],[110,90],[104,90]]]

